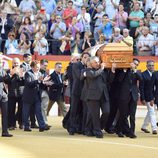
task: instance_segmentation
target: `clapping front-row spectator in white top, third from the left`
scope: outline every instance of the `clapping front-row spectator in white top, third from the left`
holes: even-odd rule
[[[45,38],[45,33],[40,31],[35,35],[35,41],[33,42],[34,52],[38,55],[46,55],[48,53],[48,42]]]

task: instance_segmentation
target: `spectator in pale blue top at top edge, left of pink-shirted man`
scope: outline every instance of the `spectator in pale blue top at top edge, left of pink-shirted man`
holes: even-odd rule
[[[106,7],[106,14],[108,14],[109,19],[112,20],[116,14],[118,9],[120,0],[106,0],[105,7]]]

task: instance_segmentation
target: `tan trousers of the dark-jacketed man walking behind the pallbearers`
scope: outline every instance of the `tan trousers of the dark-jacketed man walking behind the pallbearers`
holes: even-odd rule
[[[56,100],[56,101],[55,101],[55,100],[50,100],[50,101],[49,101],[48,110],[47,110],[47,115],[49,114],[49,111],[50,111],[50,109],[52,108],[52,106],[53,106],[53,104],[54,104],[55,102],[57,102],[57,104],[58,104],[58,106],[59,106],[59,108],[60,108],[60,110],[61,110],[62,115],[65,117],[65,115],[66,115],[66,113],[67,113],[67,110],[66,110],[66,105],[65,105],[64,100],[63,100],[62,97],[59,98],[59,99]]]

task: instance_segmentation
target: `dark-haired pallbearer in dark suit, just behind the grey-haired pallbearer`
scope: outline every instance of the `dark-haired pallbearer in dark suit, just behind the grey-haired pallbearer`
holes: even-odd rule
[[[73,84],[71,93],[70,127],[68,129],[70,135],[82,133],[82,101],[80,97],[83,81],[80,80],[80,75],[89,57],[90,54],[83,53],[81,55],[81,61],[74,63],[72,66]]]

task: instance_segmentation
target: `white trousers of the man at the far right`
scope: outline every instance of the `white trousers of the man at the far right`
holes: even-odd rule
[[[146,102],[146,106],[147,106],[148,112],[147,112],[146,117],[144,119],[144,123],[142,125],[142,128],[146,129],[147,126],[149,125],[149,123],[151,123],[152,131],[157,130],[155,105],[151,106],[150,102]]]

